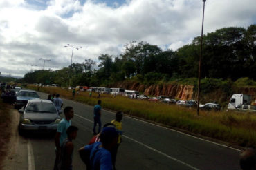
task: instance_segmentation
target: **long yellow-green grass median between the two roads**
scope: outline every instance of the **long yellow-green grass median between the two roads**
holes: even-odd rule
[[[37,90],[34,85],[29,89]],[[88,92],[80,92],[73,98],[70,90],[58,87],[40,87],[40,92],[48,94],[59,93],[62,97],[76,100],[80,103],[95,105],[97,94],[90,98]],[[256,114],[226,111],[201,111],[197,116],[196,109],[188,109],[177,105],[152,103],[146,100],[132,100],[122,96],[114,98],[109,94],[101,94],[102,107],[125,114],[136,116],[170,127],[178,127],[195,134],[216,138],[233,145],[256,145]]]

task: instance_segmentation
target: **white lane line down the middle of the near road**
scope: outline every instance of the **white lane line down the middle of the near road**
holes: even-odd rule
[[[93,123],[92,120],[89,120],[89,119],[84,118],[84,117],[82,117],[82,116],[79,116],[79,115],[77,115],[77,114],[75,114],[75,116],[77,116],[77,117],[79,117],[79,118],[82,118],[82,119],[84,119],[84,120],[86,120],[86,121],[89,121],[90,123]],[[185,165],[185,166],[187,166],[187,167],[190,167],[191,169],[199,170],[199,169],[197,169],[196,167],[193,167],[193,166],[190,165],[190,164],[186,164],[185,162],[182,162],[181,160],[177,160],[176,158],[173,158],[172,156],[169,156],[169,155],[167,155],[166,153],[163,153],[163,152],[158,151],[158,150],[156,150],[156,149],[154,149],[154,148],[152,148],[152,147],[149,147],[148,145],[145,145],[145,144],[143,144],[142,142],[139,142],[138,140],[135,140],[135,139],[133,139],[133,138],[130,138],[129,136],[123,135],[123,137],[125,137],[125,138],[127,138],[127,139],[129,139],[129,140],[131,140],[131,141],[133,141],[133,142],[136,142],[136,143],[138,143],[139,145],[142,145],[143,147],[147,147],[147,149],[150,149],[150,150],[152,150],[152,151],[155,151],[156,153],[159,153],[159,154],[161,154],[161,155],[163,155],[163,156],[165,156],[165,157],[167,157],[167,158],[170,158],[171,160],[174,160],[174,161],[176,161],[176,162],[179,162],[179,163],[181,163],[181,164],[183,164],[183,165]]]

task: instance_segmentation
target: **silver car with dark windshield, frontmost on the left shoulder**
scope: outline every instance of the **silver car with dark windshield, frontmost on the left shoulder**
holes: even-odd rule
[[[60,116],[50,100],[33,99],[19,110],[19,132],[56,131]]]

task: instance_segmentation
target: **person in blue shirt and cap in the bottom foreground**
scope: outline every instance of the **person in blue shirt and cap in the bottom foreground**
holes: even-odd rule
[[[89,153],[90,169],[98,170],[113,170],[111,161],[111,149],[116,146],[118,142],[118,132],[114,127],[104,127],[100,133],[100,142],[95,142],[91,145],[86,145],[78,151],[84,150]]]

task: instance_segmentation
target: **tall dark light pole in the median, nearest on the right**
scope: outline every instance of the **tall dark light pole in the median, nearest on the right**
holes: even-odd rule
[[[204,8],[205,1],[203,0],[203,20],[204,20]],[[201,58],[203,50],[203,21],[202,21],[202,30],[201,30],[201,47],[200,47],[200,56],[199,56],[199,74],[198,74],[198,89],[197,89],[197,115],[199,115],[199,103],[200,103],[200,83],[201,83]]]

